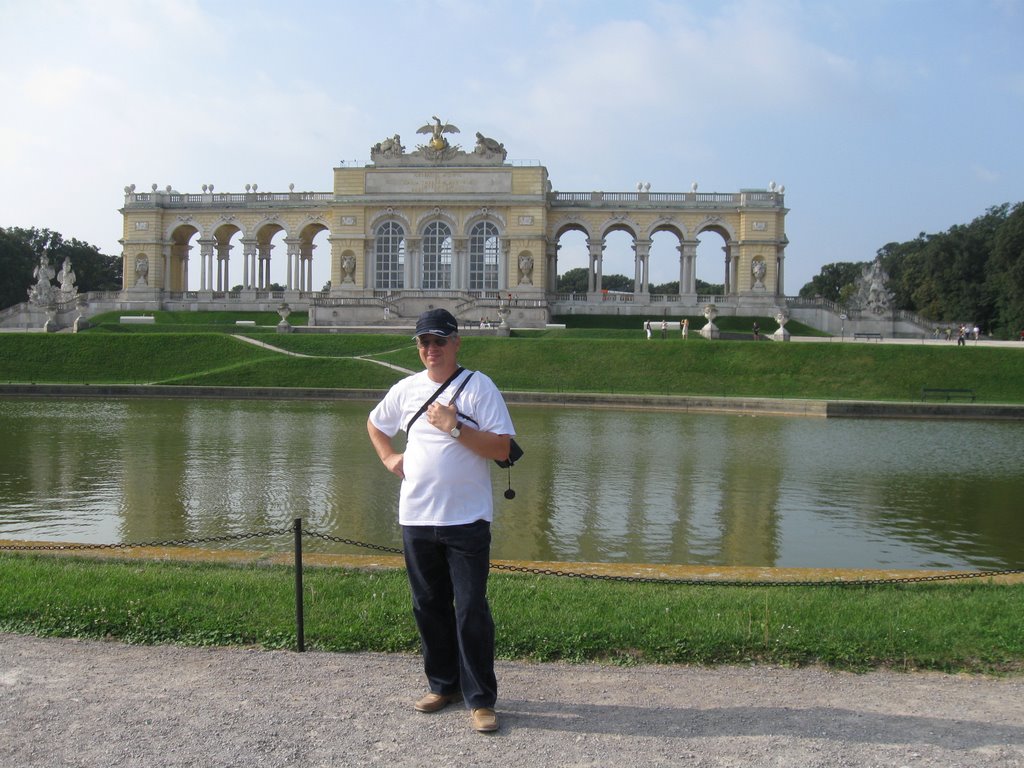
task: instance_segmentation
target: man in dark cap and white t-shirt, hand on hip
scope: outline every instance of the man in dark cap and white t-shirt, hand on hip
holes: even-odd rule
[[[391,387],[367,421],[381,462],[401,478],[398,522],[430,687],[415,709],[438,712],[462,698],[473,728],[495,731],[490,461],[508,458],[515,431],[494,382],[459,366],[450,312],[421,314],[415,339],[425,370]],[[404,453],[392,442],[400,429]]]

